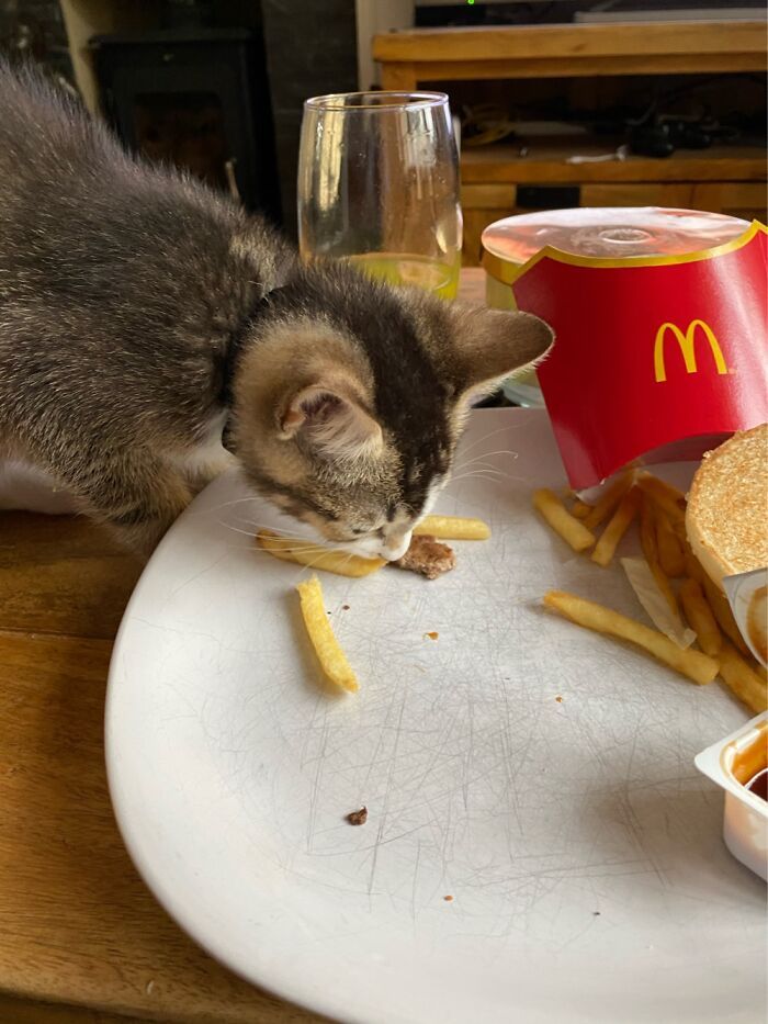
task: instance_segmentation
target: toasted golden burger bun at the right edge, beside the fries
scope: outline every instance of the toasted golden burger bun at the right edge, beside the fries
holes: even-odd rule
[[[686,529],[712,579],[768,565],[768,424],[709,451],[688,496]]]

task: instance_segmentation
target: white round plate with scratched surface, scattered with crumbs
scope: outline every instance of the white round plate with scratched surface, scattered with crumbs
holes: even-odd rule
[[[273,517],[236,476],[178,521],[110,678],[136,864],[211,953],[341,1021],[764,1020],[765,887],[693,768],[747,716],[542,610],[557,586],[642,616],[530,510],[564,483],[543,412],[477,412],[462,448],[438,510],[489,542],[432,583],[323,575],[357,696],[318,684],[303,571],[253,550]]]

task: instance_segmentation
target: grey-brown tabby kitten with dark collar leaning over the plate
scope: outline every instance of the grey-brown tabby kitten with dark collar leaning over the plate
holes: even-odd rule
[[[399,558],[473,396],[552,338],[529,314],[305,266],[0,66],[0,462],[48,474],[139,552],[235,462],[326,541]]]

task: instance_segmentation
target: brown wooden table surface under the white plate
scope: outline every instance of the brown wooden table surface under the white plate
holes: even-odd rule
[[[197,948],[117,833],[104,690],[140,571],[84,519],[0,513],[0,1022],[318,1022]]]

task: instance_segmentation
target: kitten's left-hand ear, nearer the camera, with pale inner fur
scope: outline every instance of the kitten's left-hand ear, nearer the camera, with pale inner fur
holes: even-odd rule
[[[343,382],[317,381],[292,394],[279,413],[283,440],[301,437],[329,461],[370,459],[382,448],[382,428]]]

